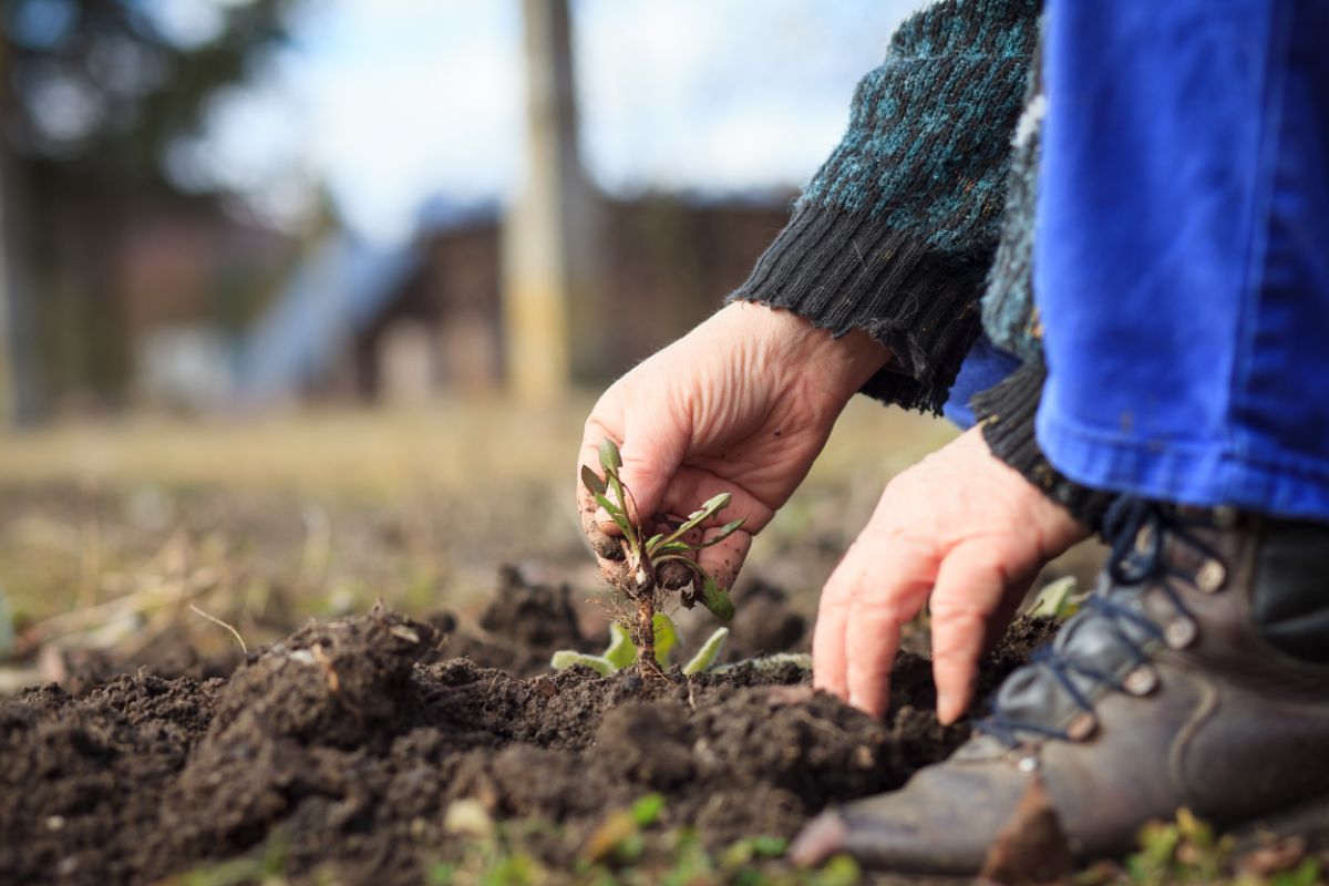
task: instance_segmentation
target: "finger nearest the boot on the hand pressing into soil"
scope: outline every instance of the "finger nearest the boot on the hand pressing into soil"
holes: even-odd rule
[[[958,545],[941,562],[932,594],[932,672],[942,725],[973,700],[978,659],[1009,588],[1006,565],[991,545]]]

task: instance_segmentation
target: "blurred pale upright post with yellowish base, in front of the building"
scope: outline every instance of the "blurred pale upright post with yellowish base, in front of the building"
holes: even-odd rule
[[[513,393],[553,402],[599,357],[595,197],[577,147],[567,0],[522,0],[522,17],[526,142],[521,193],[504,226],[504,344]]]

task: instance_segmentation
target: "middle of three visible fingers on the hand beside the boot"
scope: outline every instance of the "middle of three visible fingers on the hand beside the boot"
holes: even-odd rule
[[[845,687],[849,704],[876,717],[886,709],[901,630],[932,592],[937,553],[901,535],[865,547],[872,563],[859,573],[867,580],[853,588],[844,632]]]

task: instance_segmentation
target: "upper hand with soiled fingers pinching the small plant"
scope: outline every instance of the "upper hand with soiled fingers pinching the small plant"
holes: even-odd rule
[[[601,569],[614,574],[619,531],[579,476],[589,465],[603,477],[601,440],[622,452],[621,477],[639,522],[686,515],[732,493],[719,522],[747,521],[699,553],[702,567],[728,588],[752,535],[803,482],[849,397],[889,356],[865,332],[835,339],[788,311],[734,302],[637,365],[595,402],[582,436],[577,502]]]

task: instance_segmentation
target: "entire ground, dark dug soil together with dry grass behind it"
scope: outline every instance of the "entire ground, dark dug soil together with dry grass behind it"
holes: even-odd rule
[[[881,721],[789,668],[552,675],[554,650],[606,634],[571,509],[581,414],[481,404],[0,441],[17,628],[0,648],[0,883],[771,882],[744,879],[754,865],[781,882],[760,861],[779,842],[754,840],[961,740],[912,654]],[[726,660],[807,648],[882,485],[949,434],[847,413],[754,546]],[[409,618],[364,615],[377,599]],[[1041,635],[1023,631],[985,689]],[[649,826],[623,824],[655,794]]]

